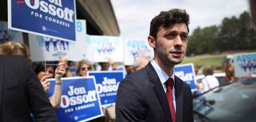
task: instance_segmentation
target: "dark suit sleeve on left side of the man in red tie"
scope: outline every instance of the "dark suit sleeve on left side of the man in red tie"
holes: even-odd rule
[[[120,82],[116,96],[116,122],[146,122],[141,88],[132,79]]]

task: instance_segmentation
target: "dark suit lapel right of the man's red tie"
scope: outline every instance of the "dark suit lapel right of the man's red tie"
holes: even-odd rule
[[[175,102],[176,102],[176,122],[183,122],[183,93],[182,83],[177,76],[175,76]]]

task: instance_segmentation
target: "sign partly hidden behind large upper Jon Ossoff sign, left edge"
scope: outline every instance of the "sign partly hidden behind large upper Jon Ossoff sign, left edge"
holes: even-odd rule
[[[9,30],[8,23],[0,21],[0,43],[6,41],[23,43],[23,35],[19,31]]]

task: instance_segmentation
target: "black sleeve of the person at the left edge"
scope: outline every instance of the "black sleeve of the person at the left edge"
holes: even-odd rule
[[[58,122],[55,109],[53,109],[37,75],[24,59],[23,64],[26,71],[29,107],[35,117],[35,122]]]

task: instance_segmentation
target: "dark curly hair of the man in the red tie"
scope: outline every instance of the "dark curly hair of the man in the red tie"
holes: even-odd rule
[[[160,26],[164,28],[168,28],[172,26],[174,23],[185,23],[188,32],[190,16],[186,13],[186,10],[181,9],[172,9],[169,11],[162,11],[159,15],[155,16],[150,23],[150,36],[153,36],[155,39],[157,38],[157,32]]]

